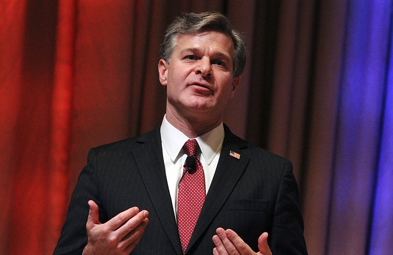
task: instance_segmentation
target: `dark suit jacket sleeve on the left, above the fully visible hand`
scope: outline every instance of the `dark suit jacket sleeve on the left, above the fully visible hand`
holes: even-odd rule
[[[87,244],[86,221],[89,212],[88,200],[94,200],[100,208],[100,222],[107,221],[101,211],[97,192],[96,149],[90,149],[87,165],[79,175],[71,196],[67,216],[54,255],[81,255]]]

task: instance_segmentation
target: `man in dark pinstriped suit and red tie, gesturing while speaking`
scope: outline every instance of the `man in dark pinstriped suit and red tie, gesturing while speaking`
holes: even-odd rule
[[[223,124],[245,61],[224,15],[175,19],[162,124],[89,151],[54,254],[307,254],[291,163]]]

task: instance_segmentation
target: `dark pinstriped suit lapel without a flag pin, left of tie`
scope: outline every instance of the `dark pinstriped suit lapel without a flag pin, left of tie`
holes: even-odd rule
[[[174,250],[181,255],[179,233],[165,174],[160,126],[142,135],[137,143],[132,150],[143,182]]]

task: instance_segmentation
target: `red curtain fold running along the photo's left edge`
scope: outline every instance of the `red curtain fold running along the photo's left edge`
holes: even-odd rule
[[[0,5],[0,17],[3,17],[0,26],[0,250],[3,251],[9,251],[12,187],[17,168],[14,130],[21,107],[25,15],[25,1]]]

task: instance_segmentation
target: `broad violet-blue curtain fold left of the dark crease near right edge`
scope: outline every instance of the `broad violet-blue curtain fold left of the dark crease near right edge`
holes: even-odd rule
[[[350,1],[327,254],[366,252],[385,101],[391,3]]]

